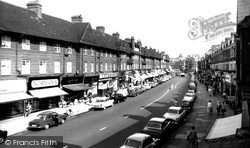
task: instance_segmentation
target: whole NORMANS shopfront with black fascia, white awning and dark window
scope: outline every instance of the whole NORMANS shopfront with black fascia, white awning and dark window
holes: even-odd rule
[[[29,77],[28,91],[36,97],[32,99],[32,110],[59,107],[59,102],[67,92],[60,88],[60,76]]]

